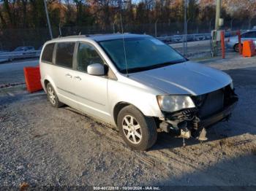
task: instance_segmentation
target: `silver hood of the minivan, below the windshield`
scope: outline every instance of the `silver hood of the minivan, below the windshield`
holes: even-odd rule
[[[201,95],[232,82],[224,72],[191,61],[129,74],[129,78],[173,95]]]

